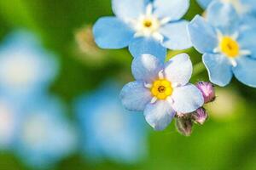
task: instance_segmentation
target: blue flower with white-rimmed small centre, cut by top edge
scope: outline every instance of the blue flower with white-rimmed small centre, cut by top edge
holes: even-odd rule
[[[190,48],[188,21],[181,20],[189,0],[112,0],[117,17],[102,17],[93,28],[101,48],[129,46],[134,57],[154,54],[164,60],[166,48]]]

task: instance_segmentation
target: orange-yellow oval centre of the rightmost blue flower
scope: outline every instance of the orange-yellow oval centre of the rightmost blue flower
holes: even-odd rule
[[[219,45],[221,52],[226,54],[228,57],[235,58],[238,56],[240,51],[239,44],[231,37],[223,37]]]

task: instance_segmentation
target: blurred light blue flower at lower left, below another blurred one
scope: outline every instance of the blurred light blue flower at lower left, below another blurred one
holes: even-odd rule
[[[32,167],[50,167],[73,153],[77,136],[58,99],[38,97],[24,107],[15,150]]]

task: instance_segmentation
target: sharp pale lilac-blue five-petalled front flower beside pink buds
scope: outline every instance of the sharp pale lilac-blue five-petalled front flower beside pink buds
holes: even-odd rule
[[[165,129],[176,112],[193,112],[204,104],[201,91],[189,83],[192,63],[188,54],[178,54],[166,65],[143,54],[133,60],[131,70],[136,82],[126,84],[120,98],[126,109],[144,111],[155,130]]]

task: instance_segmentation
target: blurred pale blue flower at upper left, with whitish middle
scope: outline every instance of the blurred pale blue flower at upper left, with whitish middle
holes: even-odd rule
[[[35,94],[53,81],[58,63],[25,31],[15,32],[0,46],[0,91],[19,96]]]

